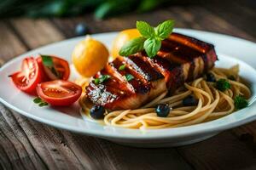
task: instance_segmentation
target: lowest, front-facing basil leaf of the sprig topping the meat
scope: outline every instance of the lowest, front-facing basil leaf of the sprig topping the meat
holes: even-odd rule
[[[149,58],[153,58],[161,47],[161,41],[155,38],[148,38],[144,42],[144,48]]]

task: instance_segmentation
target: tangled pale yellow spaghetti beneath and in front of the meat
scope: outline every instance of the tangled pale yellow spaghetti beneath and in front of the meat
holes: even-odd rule
[[[218,90],[213,82],[207,82],[204,77],[200,77],[193,82],[184,83],[184,86],[178,88],[172,96],[167,96],[165,92],[139,109],[106,112],[104,123],[115,127],[158,129],[189,126],[229,115],[235,111],[234,99],[237,95],[242,95],[245,99],[251,95],[250,89],[241,82],[238,71],[238,65],[230,69],[212,68],[210,72],[217,80],[226,79],[230,82],[231,88],[224,92]],[[228,79],[230,76],[235,77],[235,80]],[[198,99],[197,105],[183,105],[183,99],[189,95]],[[82,107],[82,114],[89,113],[91,106],[85,95],[79,104]],[[168,104],[172,107],[167,117],[157,116],[154,107],[159,104]]]

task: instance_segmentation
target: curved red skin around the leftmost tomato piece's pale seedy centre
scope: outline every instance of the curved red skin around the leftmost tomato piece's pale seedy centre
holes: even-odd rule
[[[35,65],[35,70],[36,70],[36,76],[33,77],[33,79],[31,80],[32,82],[30,82],[29,85],[27,86],[22,86],[18,83],[18,75],[19,74],[22,74],[21,71],[17,71],[15,73],[13,73],[10,77],[12,78],[12,81],[15,83],[15,86],[16,88],[19,88],[21,91],[27,93],[27,94],[37,94],[36,93],[36,88],[38,86],[38,83],[42,82],[42,72],[40,71],[39,67],[38,67],[38,63],[32,58],[26,58],[26,59],[23,59],[22,62],[28,62],[28,61],[31,61],[30,59],[32,59],[32,62],[34,62],[34,65]],[[23,63],[22,63],[22,66],[23,68]]]

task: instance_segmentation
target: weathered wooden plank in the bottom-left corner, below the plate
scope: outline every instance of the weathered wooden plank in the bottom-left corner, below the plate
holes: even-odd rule
[[[45,169],[44,161],[41,161],[40,156],[33,149],[26,133],[16,122],[14,116],[2,104],[0,104],[0,111],[1,148],[9,157],[9,162],[4,161],[3,167],[11,166],[15,169],[35,169],[37,167],[38,169]]]

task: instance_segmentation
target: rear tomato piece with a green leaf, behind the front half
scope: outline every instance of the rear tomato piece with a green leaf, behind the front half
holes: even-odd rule
[[[41,56],[37,58],[38,65],[44,68],[45,79],[49,80],[67,80],[70,74],[70,69],[67,61],[65,59],[61,59],[59,57],[51,56],[53,60],[53,66],[50,68],[49,66],[45,66],[43,59]]]

